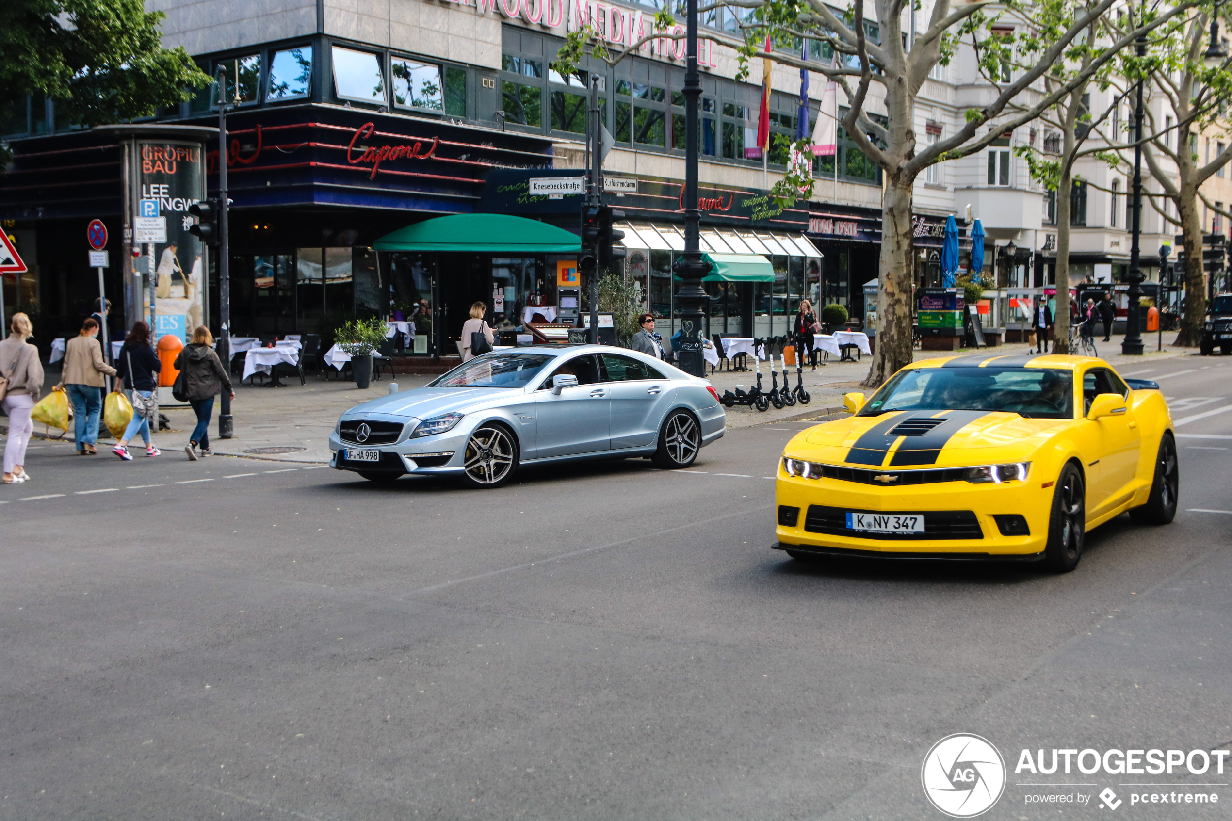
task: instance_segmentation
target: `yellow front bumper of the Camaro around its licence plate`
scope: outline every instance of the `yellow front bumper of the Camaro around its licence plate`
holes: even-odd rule
[[[1041,487],[1047,484],[1047,487]],[[797,508],[795,524],[777,524],[785,550],[854,553],[901,558],[1039,558],[1048,540],[1052,483],[1032,471],[1024,483],[976,485],[946,481],[901,489],[876,487],[838,479],[788,476],[780,460],[775,481],[776,512]],[[809,507],[814,507],[809,515]],[[882,535],[835,526],[835,512],[934,515],[935,538]],[[1003,535],[994,515],[1020,515],[1029,534]],[[790,515],[786,516],[790,519]],[[780,519],[781,521],[781,519]]]

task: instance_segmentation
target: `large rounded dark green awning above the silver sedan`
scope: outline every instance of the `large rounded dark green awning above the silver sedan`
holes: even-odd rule
[[[582,240],[563,228],[509,214],[451,214],[386,234],[377,251],[494,251],[498,254],[578,254]]]

